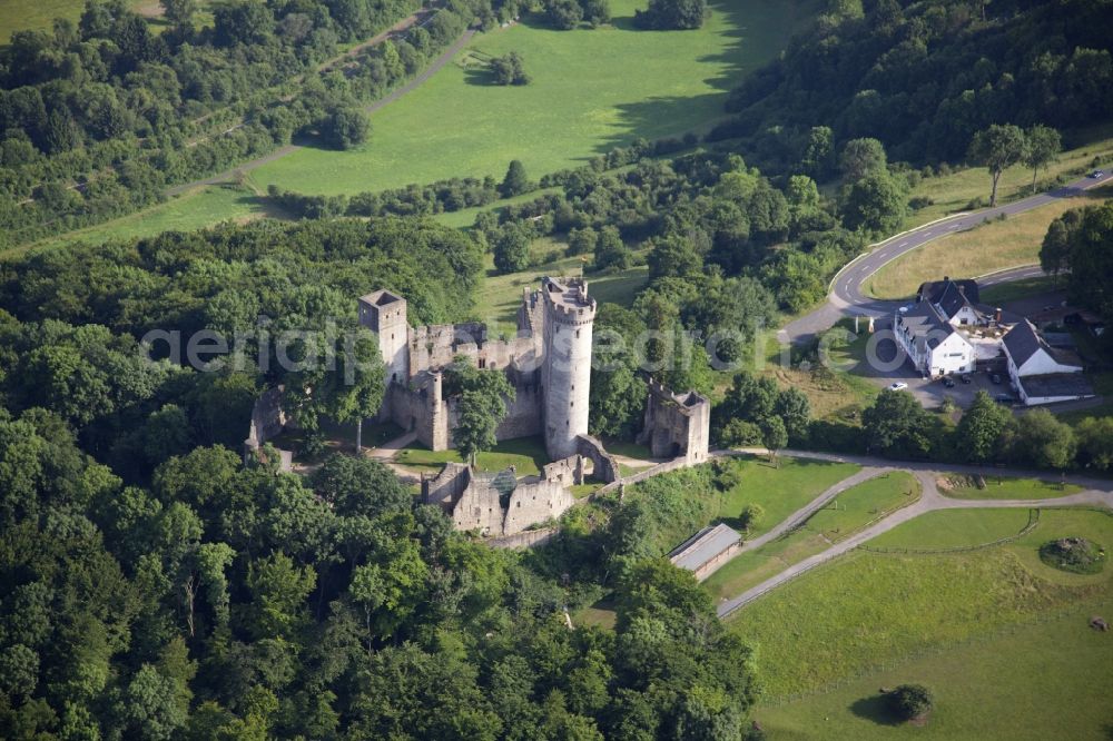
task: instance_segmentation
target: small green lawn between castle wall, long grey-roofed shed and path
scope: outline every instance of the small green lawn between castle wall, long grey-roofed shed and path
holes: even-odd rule
[[[757,504],[765,515],[750,530],[756,537],[768,532],[790,514],[823,494],[847,476],[861,470],[853,463],[828,463],[805,458],[780,458],[774,465],[762,458],[731,460],[740,470],[740,483],[726,492],[719,507],[728,525],[737,526],[736,517],[747,504]]]

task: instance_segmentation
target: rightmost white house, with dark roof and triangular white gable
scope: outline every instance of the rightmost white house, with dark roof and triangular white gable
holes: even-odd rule
[[[1093,396],[1073,353],[1052,347],[1027,319],[1002,340],[1008,378],[1026,405],[1054,404]]]

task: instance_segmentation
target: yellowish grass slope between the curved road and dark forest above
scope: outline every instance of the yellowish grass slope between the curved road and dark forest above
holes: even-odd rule
[[[1061,152],[1056,161],[1046,170],[1041,170],[1036,188],[1052,187],[1056,177],[1078,178],[1082,172],[1092,167],[1096,157],[1102,167],[1113,161],[1113,129],[1109,126],[1094,127],[1089,130],[1073,132],[1078,144]],[[1071,146],[1071,141],[1066,145]],[[1107,168],[1106,168],[1107,169]],[[953,171],[945,176],[924,178],[913,188],[910,198],[929,198],[933,204],[913,211],[905,219],[904,228],[910,229],[928,221],[943,218],[949,214],[968,210],[967,206],[975,198],[989,202],[989,172],[984,167],[971,167]],[[997,186],[997,201],[1015,200],[1028,192],[1032,186],[1032,170],[1016,165],[1006,169]]]

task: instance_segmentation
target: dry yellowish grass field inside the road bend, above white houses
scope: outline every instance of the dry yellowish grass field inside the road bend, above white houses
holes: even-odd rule
[[[975,277],[1004,268],[1040,261],[1040,246],[1047,226],[1064,213],[1096,206],[1113,197],[1113,187],[1094,188],[1085,196],[1065,198],[1005,220],[929,241],[889,263],[866,284],[878,298],[913,296],[925,280],[947,275]],[[942,268],[940,266],[946,266]]]

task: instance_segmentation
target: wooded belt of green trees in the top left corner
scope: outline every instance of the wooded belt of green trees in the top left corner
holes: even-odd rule
[[[454,0],[420,27],[316,69],[338,41],[417,8],[250,0],[219,9],[211,27],[196,29],[186,13],[155,34],[121,0],[89,0],[77,27],[14,34],[0,57],[4,244],[119,216],[158,200],[167,185],[294,137],[358,145],[367,136],[362,103],[415,75],[476,19],[494,23],[513,10]]]

